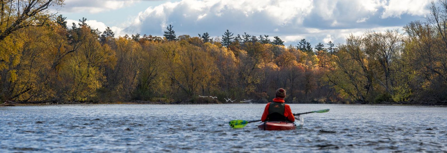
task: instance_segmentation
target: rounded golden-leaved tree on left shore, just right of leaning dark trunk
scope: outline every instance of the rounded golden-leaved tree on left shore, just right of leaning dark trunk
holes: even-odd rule
[[[82,24],[81,24],[82,25]],[[79,29],[83,43],[78,52],[61,66],[59,71],[59,93],[72,101],[86,101],[97,95],[105,81],[101,67],[112,64],[114,52],[107,45],[101,46],[98,36],[91,28],[82,25]]]

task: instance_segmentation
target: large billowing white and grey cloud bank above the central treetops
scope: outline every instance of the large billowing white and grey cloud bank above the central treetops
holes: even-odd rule
[[[399,0],[182,0],[139,12],[122,33],[162,35],[172,24],[177,35],[208,32],[216,37],[228,29],[235,35],[279,36],[291,44],[303,38],[312,44],[336,43],[344,42],[350,33],[401,28],[426,12],[427,0],[403,1],[405,4]]]

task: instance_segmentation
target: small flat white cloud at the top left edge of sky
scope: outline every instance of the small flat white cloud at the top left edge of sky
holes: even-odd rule
[[[98,13],[127,7],[138,1],[140,0],[65,0],[60,11]]]

